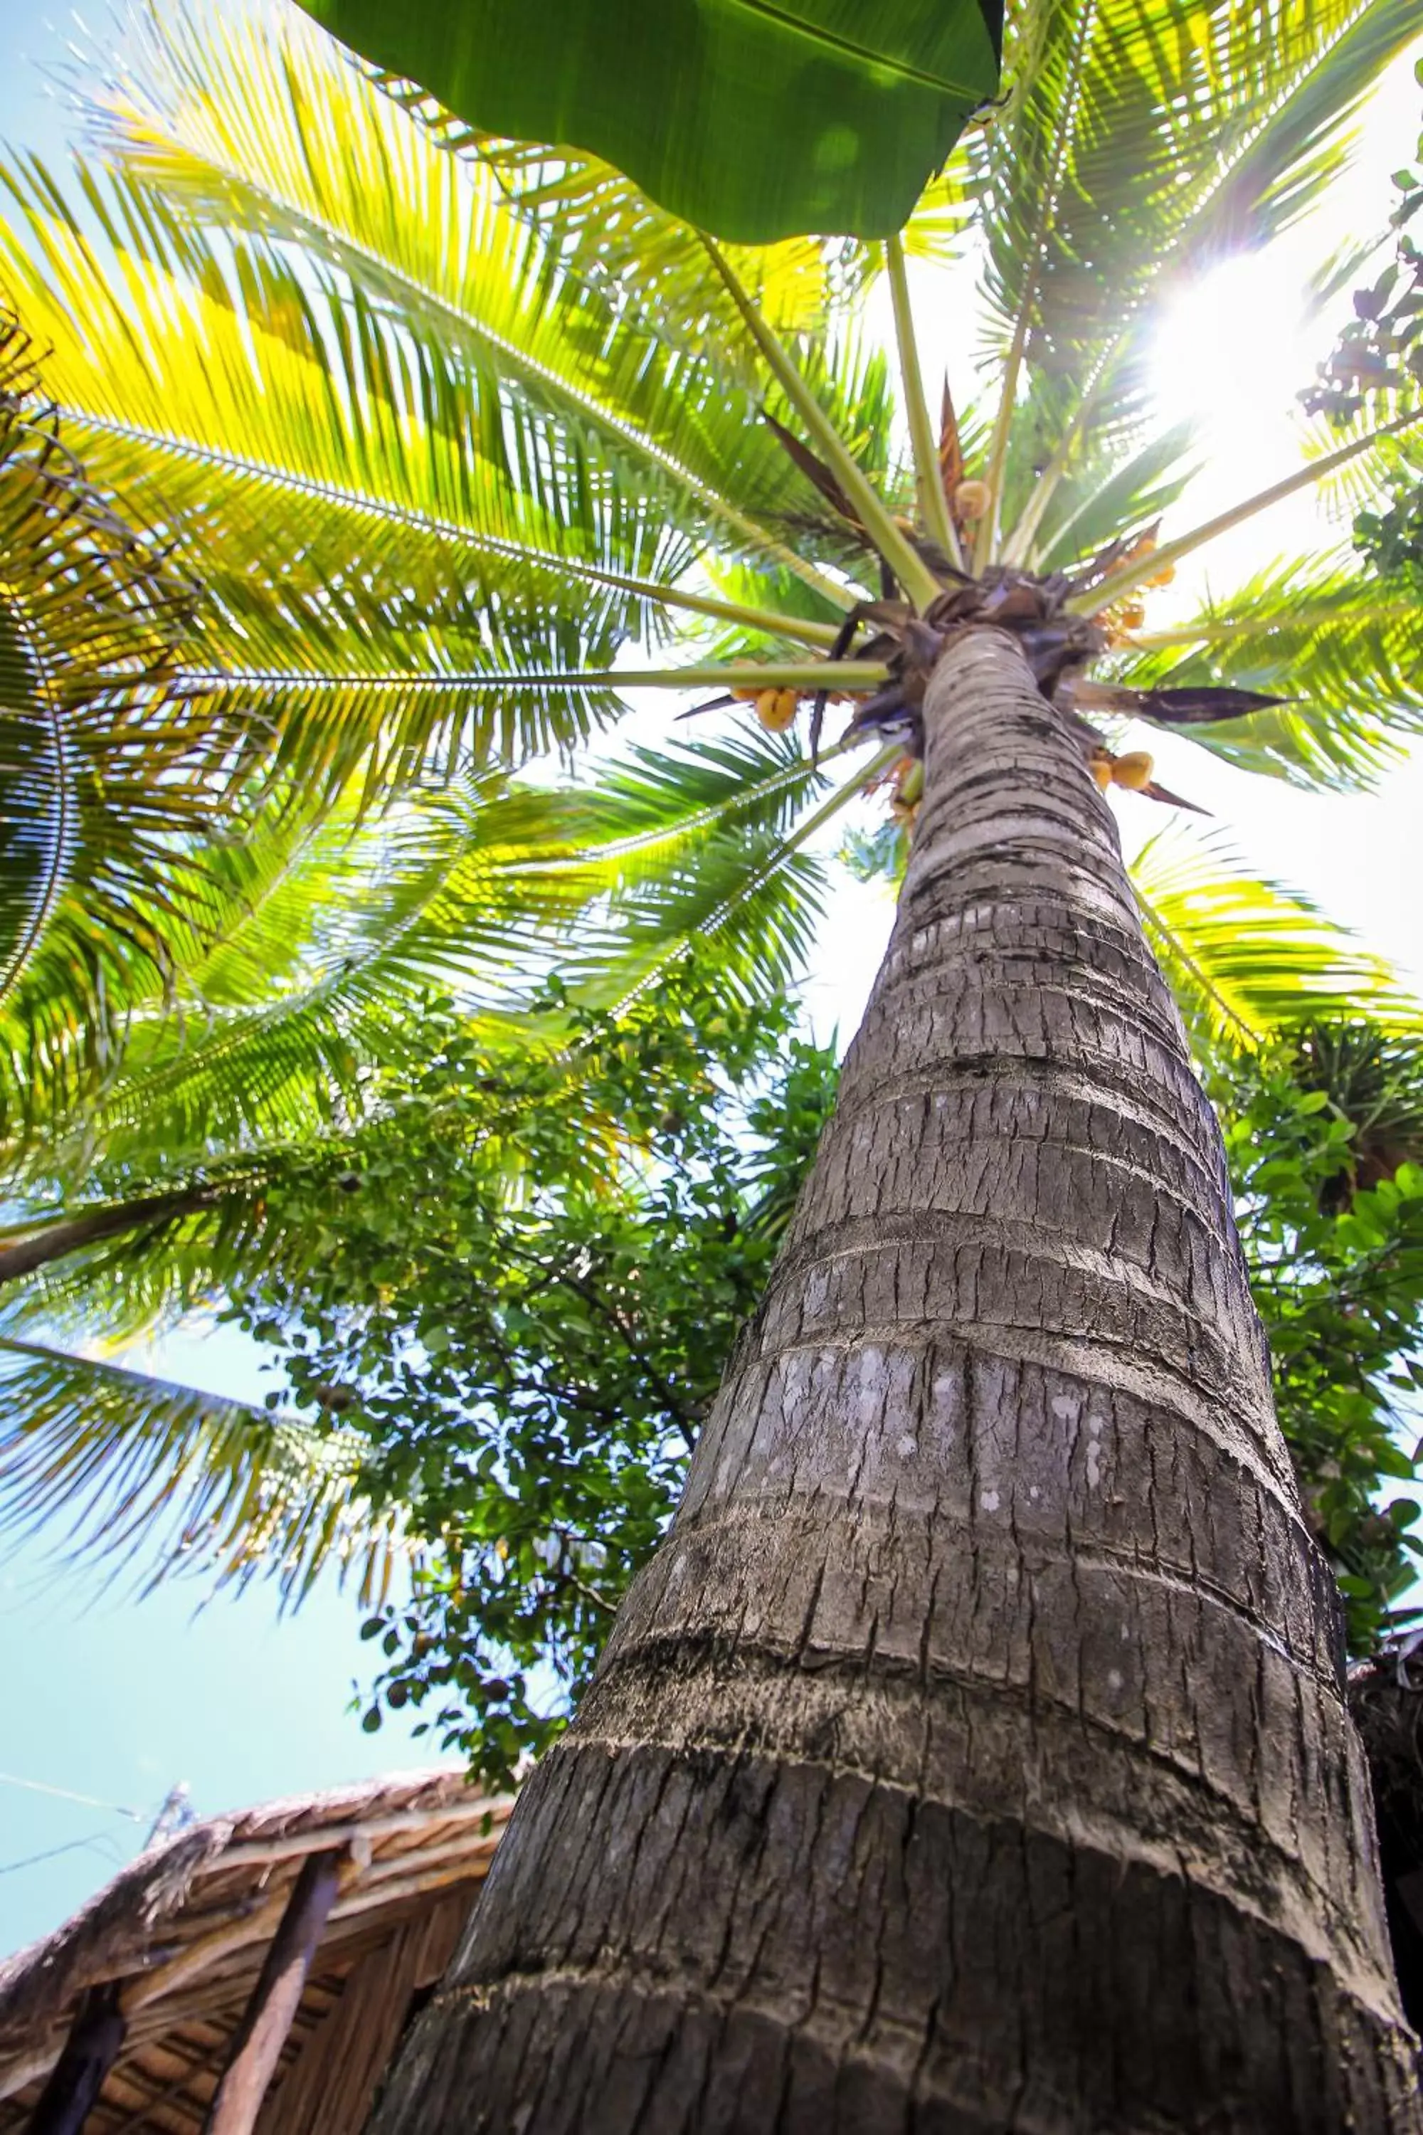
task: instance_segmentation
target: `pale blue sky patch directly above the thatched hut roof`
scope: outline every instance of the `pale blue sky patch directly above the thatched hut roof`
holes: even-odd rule
[[[162,1369],[213,1392],[260,1394],[256,1356],[237,1334],[177,1334],[162,1345]],[[414,1714],[363,1734],[350,1702],[354,1682],[369,1680],[371,1648],[358,1631],[356,1597],[335,1580],[279,1616],[273,1586],[205,1599],[179,1580],[137,1599],[132,1573],[107,1578],[55,1561],[53,1544],[6,1541],[0,1956],[45,1934],[137,1853],[179,1781],[207,1815],[452,1761],[412,1740]]]

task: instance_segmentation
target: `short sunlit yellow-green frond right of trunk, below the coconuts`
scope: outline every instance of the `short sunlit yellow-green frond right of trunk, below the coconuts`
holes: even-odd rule
[[[1250,875],[1218,837],[1158,833],[1131,865],[1146,933],[1186,1021],[1254,1042],[1314,1018],[1417,1025],[1380,956],[1278,882]]]

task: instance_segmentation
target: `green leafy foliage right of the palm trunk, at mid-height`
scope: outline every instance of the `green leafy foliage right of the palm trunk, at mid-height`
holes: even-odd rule
[[[1423,1544],[1412,1494],[1423,1390],[1423,1050],[1353,1025],[1214,1059],[1250,1287],[1306,1514],[1344,1595],[1348,1646],[1395,1603]],[[1412,1151],[1412,1155],[1408,1155]]]

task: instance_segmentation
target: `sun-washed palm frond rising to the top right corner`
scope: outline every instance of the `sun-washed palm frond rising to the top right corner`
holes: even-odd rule
[[[1011,17],[1013,88],[977,152],[986,290],[1007,363],[994,438],[1005,525],[1035,519],[1075,457],[1116,453],[1139,429],[1165,275],[1295,222],[1344,167],[1359,100],[1414,34],[1408,0],[1267,13],[1028,0]],[[1033,440],[1009,423],[1024,369],[1075,382]],[[1045,489],[1033,472],[1043,463]]]

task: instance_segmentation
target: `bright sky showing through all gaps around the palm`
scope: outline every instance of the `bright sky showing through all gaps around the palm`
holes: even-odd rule
[[[166,0],[177,4],[177,0]],[[41,66],[64,51],[55,21],[32,0],[0,0],[0,139],[58,160],[66,126]],[[1419,92],[1395,70],[1370,115],[1355,179],[1338,188],[1321,218],[1274,248],[1272,265],[1220,269],[1186,290],[1163,329],[1163,391],[1197,391],[1214,431],[1205,459],[1235,493],[1284,472],[1293,395],[1308,384],[1331,327],[1308,327],[1291,290],[1340,235],[1372,228],[1387,213],[1387,173],[1406,162],[1419,124]],[[934,292],[932,320],[969,320]],[[969,331],[966,327],[962,329]],[[939,354],[962,376],[964,346],[945,331]],[[1280,410],[1280,423],[1272,410]],[[1201,491],[1190,519],[1231,497]],[[1308,510],[1308,506],[1304,508]],[[1186,517],[1182,517],[1186,523]],[[1272,515],[1252,536],[1269,559],[1297,536],[1299,521]],[[1178,598],[1186,598],[1182,587]],[[1165,617],[1163,617],[1165,619]],[[649,717],[666,722],[666,700]],[[634,717],[634,726],[640,715]],[[1340,920],[1423,974],[1423,899],[1417,897],[1417,824],[1423,820],[1423,760],[1404,764],[1372,798],[1338,801],[1267,788],[1197,752],[1180,760],[1154,737],[1161,775],[1218,811],[1257,865],[1310,890]],[[1146,803],[1124,801],[1122,828],[1135,843],[1156,822]],[[836,828],[834,839],[838,841]],[[836,892],[834,950],[811,974],[809,1001],[821,1029],[847,1035],[860,1014],[890,927],[883,892],[845,884]],[[162,1369],[220,1392],[252,1392],[250,1358],[237,1337],[198,1334],[164,1345]],[[47,1932],[128,1857],[169,1785],[186,1781],[198,1813],[277,1793],[337,1785],[431,1761],[405,1729],[365,1736],[348,1710],[352,1680],[367,1667],[358,1608],[333,1584],[292,1618],[277,1618],[275,1591],[220,1597],[196,1608],[194,1588],[171,1586],[137,1601],[100,1573],[55,1569],[38,1546],[6,1546],[0,1563],[0,1954]],[[58,1787],[134,1810],[92,1808],[15,1785]],[[49,1855],[34,1860],[30,1855]]]

